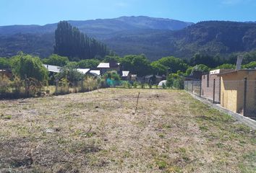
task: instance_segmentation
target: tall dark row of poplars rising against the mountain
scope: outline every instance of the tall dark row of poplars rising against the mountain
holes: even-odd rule
[[[77,27],[61,21],[55,30],[54,53],[67,56],[69,60],[104,57],[109,51],[106,45],[84,35]]]

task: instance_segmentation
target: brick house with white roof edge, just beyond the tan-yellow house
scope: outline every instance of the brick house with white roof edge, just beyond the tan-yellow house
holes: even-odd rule
[[[219,103],[221,94],[221,77],[218,74],[234,71],[232,69],[217,69],[208,74],[202,74],[201,96],[210,101]],[[213,95],[214,93],[214,95]]]

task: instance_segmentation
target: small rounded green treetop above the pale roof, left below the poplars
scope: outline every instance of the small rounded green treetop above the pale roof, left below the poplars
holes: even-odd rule
[[[53,66],[66,66],[69,63],[69,58],[66,56],[58,56],[57,54],[52,54],[48,58],[44,58],[43,63],[53,65]]]

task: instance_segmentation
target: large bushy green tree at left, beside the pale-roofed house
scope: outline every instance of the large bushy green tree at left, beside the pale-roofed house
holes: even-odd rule
[[[20,79],[33,78],[38,81],[48,79],[48,71],[40,58],[19,53],[11,58],[12,72]]]

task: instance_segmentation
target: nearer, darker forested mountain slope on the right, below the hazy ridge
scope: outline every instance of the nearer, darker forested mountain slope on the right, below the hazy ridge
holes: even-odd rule
[[[195,53],[223,56],[256,49],[256,23],[208,21],[182,30],[130,30],[103,40],[120,56],[145,53],[151,60],[163,56],[192,58]]]

